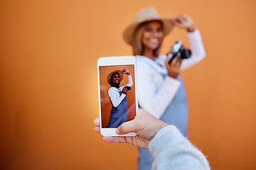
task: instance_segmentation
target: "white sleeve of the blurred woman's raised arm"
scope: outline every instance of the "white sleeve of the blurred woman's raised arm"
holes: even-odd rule
[[[193,32],[188,32],[188,41],[191,48],[191,57],[183,60],[181,63],[181,69],[188,69],[188,67],[201,62],[206,57],[206,51],[203,47],[203,41],[199,30],[196,28]]]

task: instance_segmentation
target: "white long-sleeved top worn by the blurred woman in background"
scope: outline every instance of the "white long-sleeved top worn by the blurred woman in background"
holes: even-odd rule
[[[206,56],[199,30],[188,32],[187,35],[192,55],[183,60],[181,69],[193,66]],[[181,82],[169,76],[165,78],[162,76],[168,74],[164,63],[166,55],[159,55],[155,61],[141,55],[136,57],[139,106],[156,118],[161,118],[176,95]]]

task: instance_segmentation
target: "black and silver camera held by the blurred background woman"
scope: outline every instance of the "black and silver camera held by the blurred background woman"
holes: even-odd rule
[[[181,59],[187,59],[191,57],[191,50],[186,49],[183,47],[182,41],[178,40],[175,44],[171,47],[170,52],[167,55],[171,55],[171,59],[169,64],[174,59],[174,57],[180,57]]]

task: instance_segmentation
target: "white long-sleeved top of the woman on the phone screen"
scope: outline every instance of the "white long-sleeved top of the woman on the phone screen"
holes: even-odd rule
[[[127,77],[128,77],[129,82],[125,86],[132,86],[133,85],[132,76],[127,75]],[[112,104],[115,108],[117,106],[119,106],[119,104],[122,102],[122,100],[126,96],[123,93],[121,94],[121,96],[119,95],[119,91],[122,91],[122,89],[124,89],[124,86],[121,86],[118,89],[112,86],[112,87],[110,87],[110,89],[108,91],[108,94],[110,96],[110,100],[111,100],[111,102],[112,102]]]

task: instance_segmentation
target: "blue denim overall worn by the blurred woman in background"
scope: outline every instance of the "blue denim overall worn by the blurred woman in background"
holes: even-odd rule
[[[164,76],[164,75],[163,75]],[[166,108],[166,111],[161,116],[160,120],[168,123],[169,125],[176,125],[176,127],[181,130],[181,133],[187,137],[188,136],[188,104],[186,99],[186,91],[183,84],[181,76],[178,76],[178,80],[181,81],[181,86],[179,87],[173,100]],[[171,87],[170,87],[171,88]],[[153,159],[146,149],[139,148],[139,158],[138,158],[139,170],[149,170]]]

